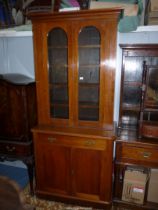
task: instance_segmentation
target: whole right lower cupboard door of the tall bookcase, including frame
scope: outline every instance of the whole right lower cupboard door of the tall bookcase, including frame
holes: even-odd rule
[[[104,146],[72,149],[72,192],[76,197],[111,202],[112,145],[104,140]]]

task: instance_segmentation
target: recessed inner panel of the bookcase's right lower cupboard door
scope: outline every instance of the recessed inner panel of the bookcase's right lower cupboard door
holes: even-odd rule
[[[72,157],[75,196],[99,200],[101,152],[91,149],[74,149]]]

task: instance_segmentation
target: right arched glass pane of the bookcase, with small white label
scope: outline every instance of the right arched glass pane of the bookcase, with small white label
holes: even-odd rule
[[[99,120],[100,33],[85,27],[79,34],[79,120]]]

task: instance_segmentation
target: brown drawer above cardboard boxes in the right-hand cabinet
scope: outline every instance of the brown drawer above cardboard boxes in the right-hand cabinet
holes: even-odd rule
[[[158,149],[147,146],[118,144],[116,147],[116,159],[119,161],[144,161],[158,164]]]

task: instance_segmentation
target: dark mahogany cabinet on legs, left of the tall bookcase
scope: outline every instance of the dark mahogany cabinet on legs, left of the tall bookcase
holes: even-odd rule
[[[37,123],[35,81],[22,74],[0,75],[0,160],[22,160],[33,193],[31,128]]]

